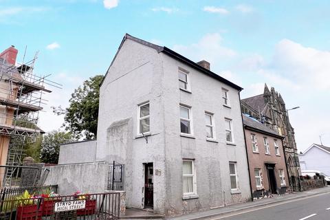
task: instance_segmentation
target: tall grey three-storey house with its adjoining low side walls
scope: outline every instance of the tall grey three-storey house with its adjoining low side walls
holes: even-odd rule
[[[100,87],[98,140],[62,146],[47,184],[106,190],[102,162],[115,161],[127,208],[174,216],[247,201],[240,91],[210,63],[126,34]],[[72,175],[91,164],[98,172],[83,172],[88,180]]]

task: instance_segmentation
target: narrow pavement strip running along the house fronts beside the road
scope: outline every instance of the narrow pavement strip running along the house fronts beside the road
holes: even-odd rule
[[[304,191],[304,192],[308,192],[307,191]],[[309,195],[303,195],[303,196],[300,196],[300,197],[292,197],[292,198],[288,198],[288,199],[281,199],[281,200],[276,200],[276,201],[269,201],[269,202],[266,202],[266,203],[258,203],[258,204],[252,204],[251,206],[245,206],[245,207],[242,207],[242,208],[236,208],[236,209],[233,209],[233,210],[228,210],[228,211],[224,211],[224,212],[219,212],[219,213],[214,213],[214,214],[205,214],[203,216],[199,216],[199,217],[190,217],[190,218],[185,218],[185,220],[205,220],[205,219],[210,219],[212,217],[221,217],[225,214],[234,214],[236,212],[240,212],[240,211],[243,211],[243,210],[249,210],[251,208],[256,208],[256,207],[263,207],[263,206],[268,206],[270,204],[275,204],[275,203],[281,203],[283,201],[290,201],[290,200],[294,200],[294,199],[301,199],[301,198],[305,198],[305,197],[310,197],[312,195],[320,195],[320,194],[326,194],[326,193],[329,193],[330,191],[322,191],[322,192],[316,192],[314,194],[309,194]],[[251,202],[253,203],[253,202]],[[237,204],[233,204],[234,205],[237,205]],[[230,207],[230,206],[226,206],[226,207]],[[220,210],[221,208],[219,208]],[[182,216],[181,216],[182,217]],[[168,220],[170,220],[171,218],[168,218]]]

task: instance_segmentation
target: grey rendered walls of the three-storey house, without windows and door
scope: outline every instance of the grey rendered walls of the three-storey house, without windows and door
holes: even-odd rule
[[[189,72],[191,91],[178,86],[178,69]],[[230,107],[221,89],[228,89]],[[137,135],[137,109],[150,103],[148,143]],[[180,135],[179,104],[191,107],[193,134]],[[214,114],[216,139],[206,140],[205,112]],[[234,144],[225,142],[225,118]],[[126,206],[144,208],[144,163],[153,163],[154,211],[177,215],[250,199],[239,90],[152,47],[125,38],[100,87],[96,161],[125,164]],[[193,159],[197,193],[183,197],[182,161]],[[230,188],[236,163],[239,190]]]

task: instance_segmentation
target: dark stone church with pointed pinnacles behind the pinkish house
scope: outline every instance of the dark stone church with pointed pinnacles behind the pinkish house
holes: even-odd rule
[[[283,148],[289,172],[289,183],[293,190],[299,190],[300,165],[294,128],[289,122],[289,115],[281,94],[278,94],[274,87],[270,90],[265,85],[263,94],[241,100],[241,107],[243,113],[251,115],[276,131],[278,135],[284,136]]]

